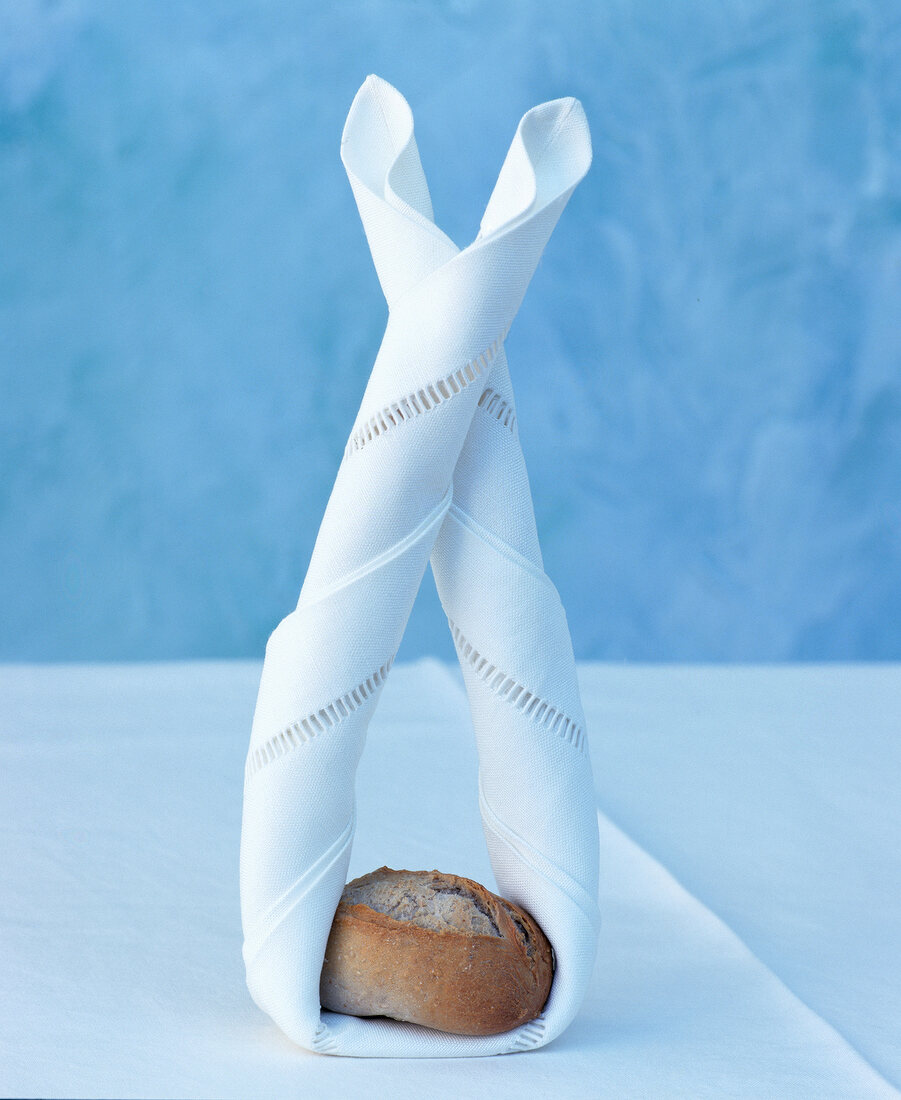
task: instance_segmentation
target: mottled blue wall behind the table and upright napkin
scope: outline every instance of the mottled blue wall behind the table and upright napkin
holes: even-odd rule
[[[507,343],[576,654],[901,657],[893,0],[0,0],[0,658],[262,657],[294,606],[385,322],[370,72],[459,244],[521,113],[587,112]]]

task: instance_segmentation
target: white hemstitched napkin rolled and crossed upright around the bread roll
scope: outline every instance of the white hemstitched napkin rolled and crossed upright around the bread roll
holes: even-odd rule
[[[435,224],[413,114],[384,80],[356,94],[341,157],[389,314],[297,607],[266,646],[241,835],[248,987],[310,1050],[526,1050],[559,1035],[587,990],[598,838],[572,644],[541,561],[504,339],[589,169],[587,123],[574,99],[524,116],[462,251]],[[319,1003],[356,767],[429,560],[469,695],[498,890],[535,916],[556,959],[541,1015],[485,1037]]]

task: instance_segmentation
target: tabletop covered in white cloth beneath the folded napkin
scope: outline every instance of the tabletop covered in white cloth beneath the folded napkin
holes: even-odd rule
[[[251,662],[0,668],[0,1093],[898,1097],[901,666],[581,664],[603,914],[549,1046],[351,1059],[244,986]],[[455,668],[397,667],[350,876],[495,889]],[[363,1091],[365,1090],[365,1091]]]

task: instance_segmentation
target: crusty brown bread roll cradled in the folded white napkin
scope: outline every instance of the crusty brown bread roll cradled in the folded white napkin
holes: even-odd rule
[[[552,978],[550,944],[517,905],[458,875],[381,867],[344,887],[319,997],[333,1012],[495,1035],[534,1020]]]

